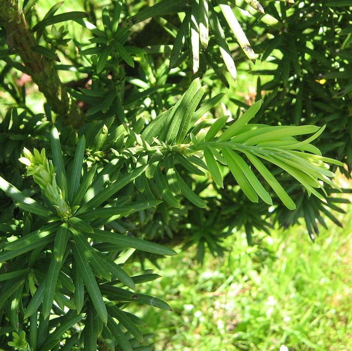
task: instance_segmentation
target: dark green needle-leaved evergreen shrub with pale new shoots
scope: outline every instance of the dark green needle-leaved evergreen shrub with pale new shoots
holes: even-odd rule
[[[0,0],[1,347],[152,350],[125,308],[170,307],[137,292],[158,275],[128,260],[182,243],[202,261],[236,229],[250,244],[300,217],[313,239],[322,213],[340,224],[350,1],[293,2]],[[275,68],[222,113],[248,59]]]

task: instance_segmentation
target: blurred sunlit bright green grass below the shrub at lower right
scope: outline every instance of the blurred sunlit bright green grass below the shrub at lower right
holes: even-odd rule
[[[160,261],[162,278],[141,292],[173,311],[137,310],[155,350],[352,350],[352,213],[343,220],[315,244],[297,226],[258,233],[250,248],[237,233],[203,266],[195,248]]]

